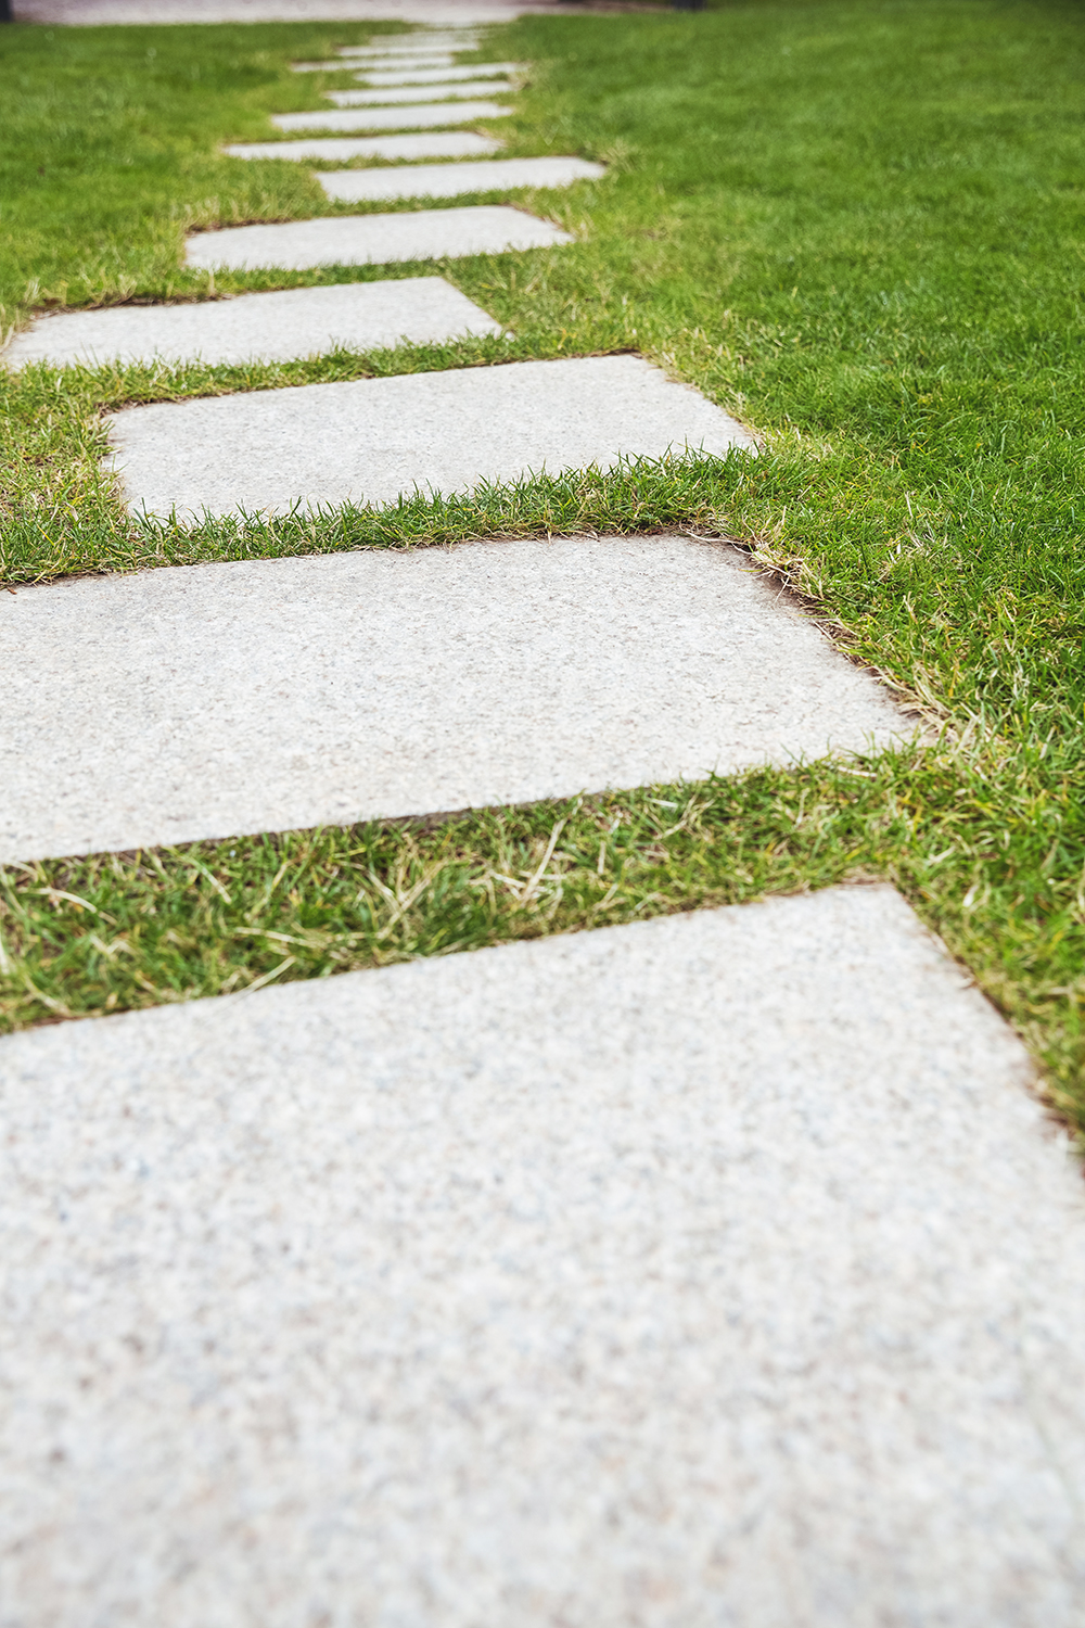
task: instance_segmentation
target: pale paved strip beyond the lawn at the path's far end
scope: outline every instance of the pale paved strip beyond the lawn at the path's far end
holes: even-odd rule
[[[18,23],[416,23],[464,28],[529,11],[568,15],[561,0],[15,0]]]

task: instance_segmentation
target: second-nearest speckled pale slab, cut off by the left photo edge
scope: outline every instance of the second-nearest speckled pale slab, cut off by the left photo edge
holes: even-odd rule
[[[0,641],[3,863],[699,778],[916,729],[742,555],[683,537],[20,588]]]

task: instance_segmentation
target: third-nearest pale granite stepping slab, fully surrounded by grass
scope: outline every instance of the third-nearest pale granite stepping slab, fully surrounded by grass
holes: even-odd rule
[[[114,414],[109,435],[127,501],[163,518],[394,503],[625,456],[753,448],[742,425],[641,357],[156,402]]]

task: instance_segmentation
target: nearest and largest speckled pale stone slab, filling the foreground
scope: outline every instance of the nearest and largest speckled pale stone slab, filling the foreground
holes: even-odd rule
[[[1080,1628],[1080,1177],[891,891],[0,1076],[13,1623]]]

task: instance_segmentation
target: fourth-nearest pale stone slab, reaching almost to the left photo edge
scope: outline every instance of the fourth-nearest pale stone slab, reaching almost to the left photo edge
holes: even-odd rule
[[[42,317],[18,334],[11,366],[85,363],[241,363],[376,350],[402,340],[436,345],[501,326],[442,277],[413,277],[343,288],[288,288],[203,304],[114,306]]]

